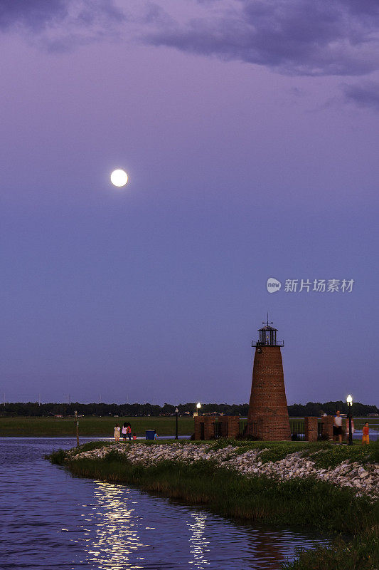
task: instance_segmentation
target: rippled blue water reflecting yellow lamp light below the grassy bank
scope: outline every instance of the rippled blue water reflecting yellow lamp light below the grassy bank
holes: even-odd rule
[[[295,549],[323,541],[74,478],[43,460],[73,445],[68,438],[0,438],[1,569],[276,570]]]

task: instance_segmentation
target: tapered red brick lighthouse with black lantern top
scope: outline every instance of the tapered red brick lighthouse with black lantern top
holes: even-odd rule
[[[290,440],[291,430],[284,388],[282,353],[284,341],[277,341],[277,328],[267,323],[259,329],[255,347],[248,422],[256,423],[263,440]]]

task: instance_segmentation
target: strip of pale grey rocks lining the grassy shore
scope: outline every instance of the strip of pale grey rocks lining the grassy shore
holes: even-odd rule
[[[68,460],[105,459],[110,452],[125,455],[132,463],[141,465],[156,465],[161,461],[183,461],[193,463],[200,460],[210,460],[220,467],[228,467],[246,476],[266,475],[283,480],[294,477],[315,477],[316,479],[337,484],[341,487],[356,489],[357,496],[368,495],[372,499],[379,498],[379,465],[366,464],[349,460],[341,462],[336,467],[321,469],[316,466],[311,457],[303,457],[301,452],[290,453],[284,459],[276,462],[264,462],[260,459],[265,449],[247,450],[241,453],[240,447],[228,445],[213,449],[208,445],[173,443],[170,445],[128,445],[112,444],[100,449],[77,452],[67,452]]]

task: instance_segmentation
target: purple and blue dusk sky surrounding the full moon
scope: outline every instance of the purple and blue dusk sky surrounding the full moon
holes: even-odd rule
[[[269,311],[289,403],[378,404],[378,34],[376,0],[2,0],[1,399],[246,402]]]

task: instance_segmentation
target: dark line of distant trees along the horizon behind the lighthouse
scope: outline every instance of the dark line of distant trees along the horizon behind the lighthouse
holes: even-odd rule
[[[15,416],[51,416],[51,415],[73,415],[75,410],[82,415],[119,415],[119,416],[146,416],[146,415],[172,415],[175,413],[176,406],[164,404],[163,406],[152,404],[80,404],[78,402],[70,404],[38,404],[38,402],[28,403],[6,403],[0,407],[0,415]],[[201,413],[223,413],[224,415],[241,415],[246,416],[248,404],[202,404]],[[324,404],[309,402],[303,404],[293,404],[288,406],[288,413],[291,416],[304,415],[321,415],[334,414],[336,410],[341,413],[347,413],[348,407],[342,402],[326,402]],[[196,403],[186,403],[178,405],[180,415],[196,412]],[[361,403],[353,403],[353,415],[365,416],[368,414],[377,414],[379,409],[375,405],[366,405]]]

